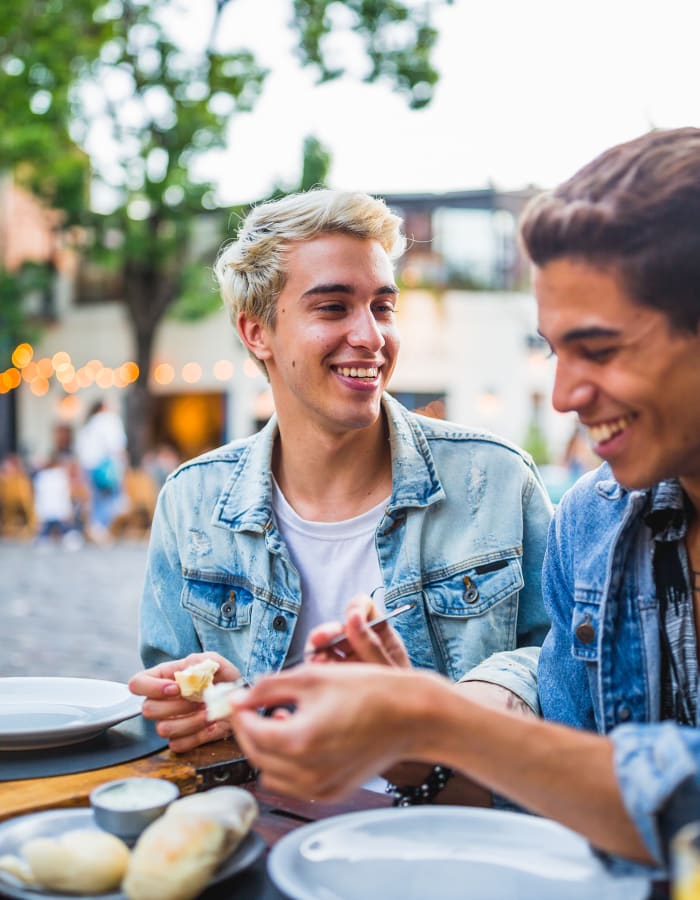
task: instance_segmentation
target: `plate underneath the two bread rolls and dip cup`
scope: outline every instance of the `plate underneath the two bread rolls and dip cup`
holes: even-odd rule
[[[20,847],[31,838],[56,837],[66,831],[83,828],[100,830],[91,809],[51,809],[47,812],[18,816],[0,824],[0,856],[6,853],[13,856],[20,855]],[[214,872],[207,887],[231,878],[248,866],[252,866],[264,850],[265,841],[260,835],[254,831],[248,832],[233,853]],[[17,900],[69,900],[78,895],[44,891],[37,887],[30,888],[0,871],[0,896],[13,897]],[[81,900],[91,898],[83,894]],[[121,891],[99,894],[97,900],[126,900],[126,894]]]

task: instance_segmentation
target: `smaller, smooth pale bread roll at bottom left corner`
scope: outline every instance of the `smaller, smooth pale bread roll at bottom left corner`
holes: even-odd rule
[[[20,852],[41,887],[66,894],[116,890],[129,864],[129,848],[123,841],[88,828],[32,838]]]

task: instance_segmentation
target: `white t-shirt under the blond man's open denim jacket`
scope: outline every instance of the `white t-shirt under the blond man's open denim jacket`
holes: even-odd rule
[[[316,625],[342,621],[355,594],[374,592],[376,606],[384,609],[384,582],[374,534],[388,499],[342,522],[310,522],[297,515],[273,479],[273,514],[301,579],[301,611],[288,659],[303,653],[306,638]]]

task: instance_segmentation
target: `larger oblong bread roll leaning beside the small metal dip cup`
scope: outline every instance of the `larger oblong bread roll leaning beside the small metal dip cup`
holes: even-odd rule
[[[181,797],[136,843],[122,890],[129,900],[192,900],[250,830],[255,798],[237,787]]]

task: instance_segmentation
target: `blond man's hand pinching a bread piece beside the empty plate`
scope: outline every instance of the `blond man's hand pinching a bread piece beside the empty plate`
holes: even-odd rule
[[[240,677],[238,669],[218,653],[190,653],[184,659],[174,659],[152,669],[144,669],[129,680],[132,694],[146,698],[141,710],[143,717],[157,722],[156,731],[162,738],[168,739],[170,749],[175,753],[184,753],[201,744],[218,741],[231,733],[228,721],[208,722],[203,703],[180,696],[175,672],[203,659],[213,659],[219,663],[214,675],[215,682],[236,681]]]

